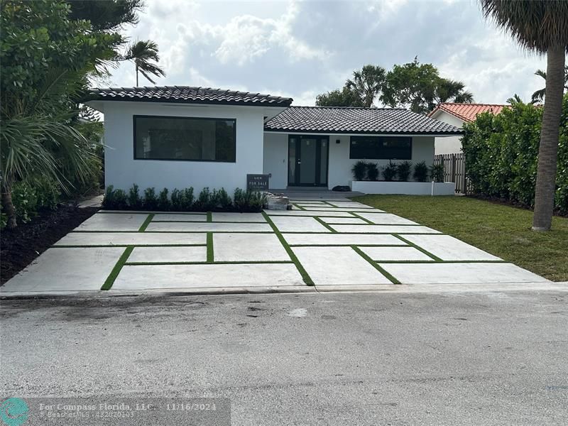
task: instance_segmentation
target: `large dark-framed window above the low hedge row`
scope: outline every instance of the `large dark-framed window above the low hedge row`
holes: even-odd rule
[[[236,121],[134,116],[135,160],[236,161]]]

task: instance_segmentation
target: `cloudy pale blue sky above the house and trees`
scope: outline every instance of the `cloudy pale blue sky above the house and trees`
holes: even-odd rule
[[[146,0],[131,38],[155,40],[166,77],[191,85],[278,94],[313,105],[366,63],[431,62],[461,80],[476,102],[530,100],[546,61],[486,23],[476,0]],[[124,63],[107,84],[133,86]],[[141,77],[141,85],[151,85]]]

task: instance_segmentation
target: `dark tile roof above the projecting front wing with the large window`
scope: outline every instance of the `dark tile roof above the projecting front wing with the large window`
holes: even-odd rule
[[[153,86],[90,89],[88,100],[288,107],[292,98],[211,87]]]

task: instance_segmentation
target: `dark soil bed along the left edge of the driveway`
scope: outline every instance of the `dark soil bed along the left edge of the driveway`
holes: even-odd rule
[[[31,222],[18,224],[16,229],[4,229],[0,235],[0,285],[97,210],[97,207],[80,209],[62,204],[57,210],[40,212]]]

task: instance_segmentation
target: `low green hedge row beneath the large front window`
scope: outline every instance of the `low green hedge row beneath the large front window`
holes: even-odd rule
[[[140,195],[134,184],[128,194],[115,190],[112,185],[104,192],[102,207],[112,210],[150,210],[159,212],[261,212],[266,195],[251,190],[236,188],[233,199],[221,188],[210,191],[208,187],[195,197],[193,187],[170,191],[164,188],[157,195],[155,188],[146,188]]]

